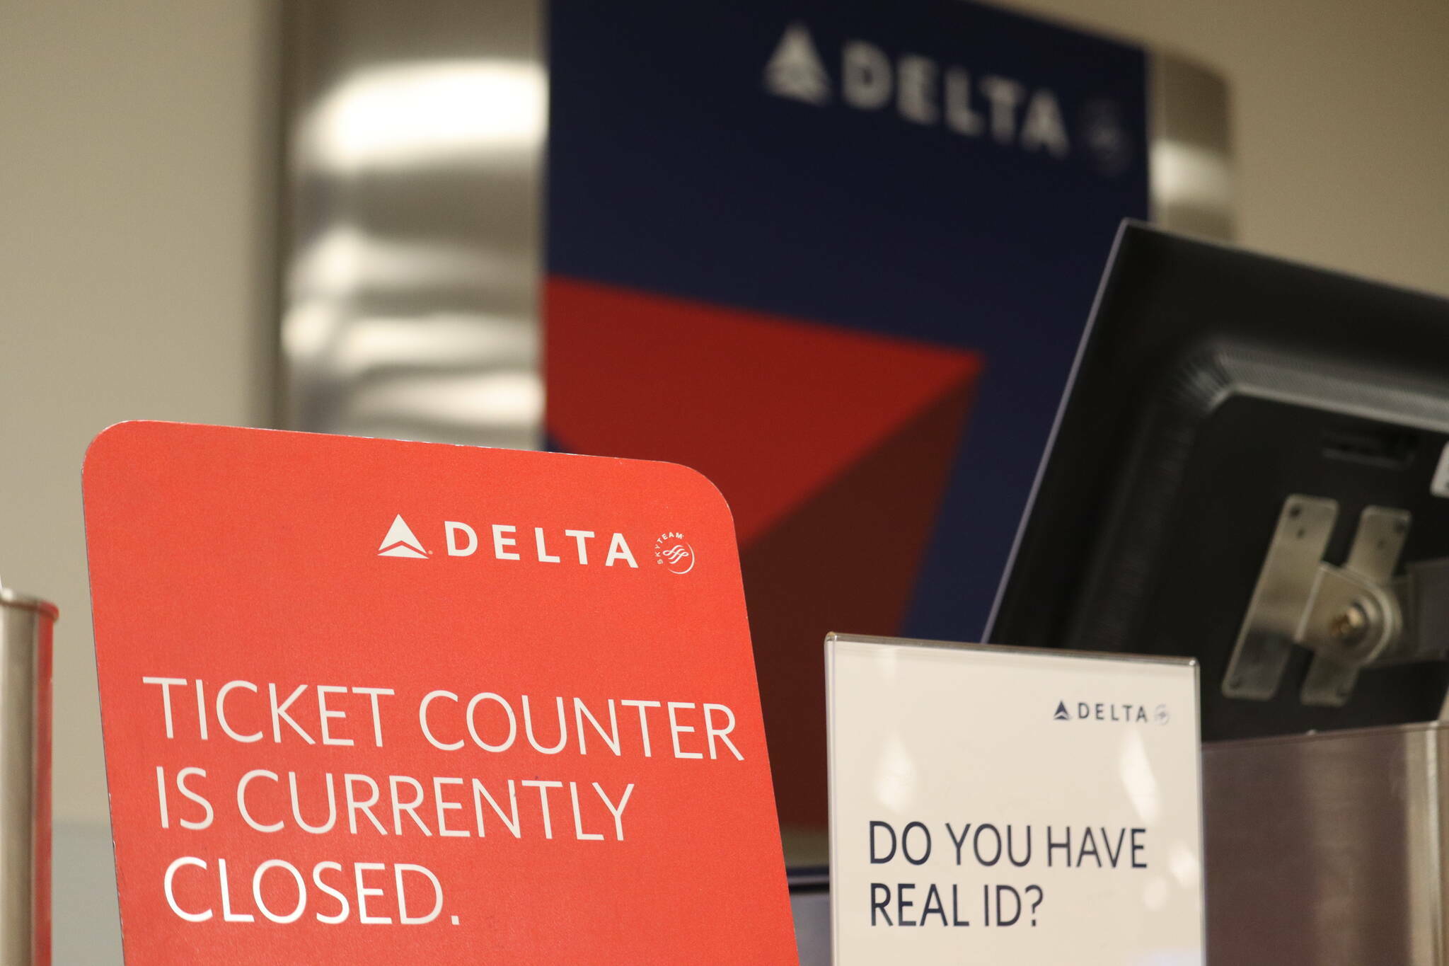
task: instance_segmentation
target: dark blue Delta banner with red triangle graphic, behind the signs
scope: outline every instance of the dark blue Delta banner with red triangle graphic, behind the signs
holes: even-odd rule
[[[1113,233],[1148,214],[1145,55],[959,0],[551,19],[551,440],[720,482],[781,814],[814,823],[824,633],[981,634]],[[909,366],[938,382],[904,406]]]

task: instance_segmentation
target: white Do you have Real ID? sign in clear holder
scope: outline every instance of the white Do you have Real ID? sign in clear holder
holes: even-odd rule
[[[1197,665],[826,639],[836,966],[1201,966]]]

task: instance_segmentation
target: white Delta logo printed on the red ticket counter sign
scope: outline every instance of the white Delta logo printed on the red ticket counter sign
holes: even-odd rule
[[[532,530],[532,539],[527,536]],[[461,520],[445,520],[442,543],[448,556],[472,556],[480,546],[491,549],[496,560],[532,560],[535,563],[577,563],[588,566],[603,563],[604,566],[626,566],[639,569],[633,549],[623,533],[598,534],[594,530],[561,530],[551,533],[545,527],[520,527],[509,523],[494,523],[484,530],[485,539],[480,540],[478,532]],[[668,539],[668,546],[661,542]],[[607,547],[604,542],[607,540]],[[433,552],[423,546],[413,529],[407,526],[403,514],[393,517],[393,524],[387,529],[387,536],[377,549],[378,556],[407,558],[413,560],[427,560]],[[487,553],[485,553],[487,556]],[[694,547],[684,540],[680,532],[669,532],[655,542],[655,556],[668,560],[671,574],[688,574],[694,569]]]

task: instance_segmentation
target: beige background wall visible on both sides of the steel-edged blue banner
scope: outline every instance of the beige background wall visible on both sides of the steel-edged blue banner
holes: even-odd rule
[[[1449,4],[1009,6],[1227,77],[1243,245],[1449,295]],[[58,963],[119,962],[81,458],[272,419],[277,54],[258,0],[0,0],[0,575],[62,613]]]

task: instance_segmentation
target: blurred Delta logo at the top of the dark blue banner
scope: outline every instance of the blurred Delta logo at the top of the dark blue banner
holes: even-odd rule
[[[785,28],[765,65],[765,90],[777,97],[823,107],[839,96],[855,110],[895,113],[914,125],[940,126],[965,138],[1065,159],[1072,154],[1061,101],[1048,87],[1032,87],[1000,74],[972,74],[922,54],[891,56],[868,41],[840,45],[839,85],[814,38],[801,22]],[[1120,174],[1132,155],[1132,135],[1110,100],[1085,106],[1081,136],[1103,174]]]

